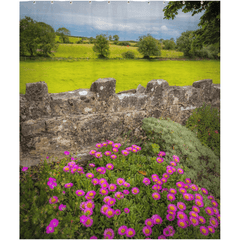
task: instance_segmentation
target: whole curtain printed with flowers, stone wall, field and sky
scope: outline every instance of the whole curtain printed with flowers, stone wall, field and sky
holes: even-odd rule
[[[220,1],[19,10],[20,238],[220,239]]]

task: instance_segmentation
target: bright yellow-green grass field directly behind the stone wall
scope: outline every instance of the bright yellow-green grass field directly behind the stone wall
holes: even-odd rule
[[[170,86],[189,86],[202,79],[219,84],[220,61],[21,61],[20,93],[25,94],[26,83],[44,81],[49,93],[59,93],[90,89],[94,81],[108,77],[116,79],[116,93],[136,89],[139,84],[146,87],[153,79],[164,79]]]

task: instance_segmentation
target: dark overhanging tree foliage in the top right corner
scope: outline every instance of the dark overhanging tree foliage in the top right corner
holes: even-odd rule
[[[192,16],[205,10],[198,24],[200,29],[195,32],[195,41],[220,48],[220,1],[185,1],[184,4],[182,1],[170,1],[163,9],[164,19],[174,19],[182,8],[184,13],[192,12]]]

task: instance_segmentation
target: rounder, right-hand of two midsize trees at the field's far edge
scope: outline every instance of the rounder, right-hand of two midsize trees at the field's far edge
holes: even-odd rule
[[[138,52],[143,54],[143,58],[149,58],[150,56],[161,56],[161,44],[150,34],[147,36],[139,37]]]

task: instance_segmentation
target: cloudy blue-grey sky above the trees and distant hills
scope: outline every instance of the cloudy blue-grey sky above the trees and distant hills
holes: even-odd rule
[[[138,40],[151,34],[156,39],[176,40],[182,32],[198,29],[204,12],[191,16],[179,11],[174,20],[163,19],[168,1],[20,1],[19,20],[25,16],[45,22],[56,31],[65,27],[71,36],[118,35],[119,41]]]

